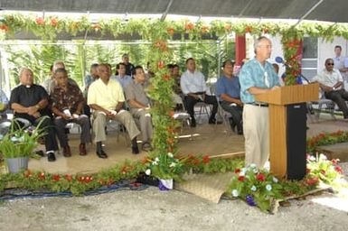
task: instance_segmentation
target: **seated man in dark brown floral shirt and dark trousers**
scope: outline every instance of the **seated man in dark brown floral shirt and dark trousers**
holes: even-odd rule
[[[81,115],[84,105],[84,98],[80,88],[68,82],[68,73],[65,69],[56,69],[54,79],[57,83],[53,89],[50,99],[52,112],[55,115],[58,139],[63,148],[65,157],[71,156],[71,148],[68,143],[68,136],[65,133],[65,126],[68,123],[76,123],[81,126],[80,155],[86,155],[86,143],[91,141],[89,117]]]

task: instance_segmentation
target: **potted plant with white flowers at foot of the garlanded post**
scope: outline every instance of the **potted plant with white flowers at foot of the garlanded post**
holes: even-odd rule
[[[153,175],[159,180],[160,190],[173,189],[174,180],[181,180],[184,159],[179,159],[172,152],[160,153],[146,161],[146,175]]]

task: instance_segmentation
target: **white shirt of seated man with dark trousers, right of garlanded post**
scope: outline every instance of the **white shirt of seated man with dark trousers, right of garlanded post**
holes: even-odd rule
[[[186,70],[183,72],[180,79],[180,87],[182,88],[184,95],[207,91],[204,76],[200,71],[191,72]]]

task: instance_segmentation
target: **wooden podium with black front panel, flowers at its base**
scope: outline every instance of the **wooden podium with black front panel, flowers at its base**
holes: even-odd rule
[[[268,103],[270,171],[279,178],[306,175],[306,102],[318,100],[319,84],[281,87],[255,96]]]

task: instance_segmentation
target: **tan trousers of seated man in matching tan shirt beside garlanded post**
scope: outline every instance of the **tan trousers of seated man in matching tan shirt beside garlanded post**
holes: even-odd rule
[[[151,115],[144,109],[132,108],[130,111],[132,115],[139,120],[143,143],[150,142],[153,133]]]

